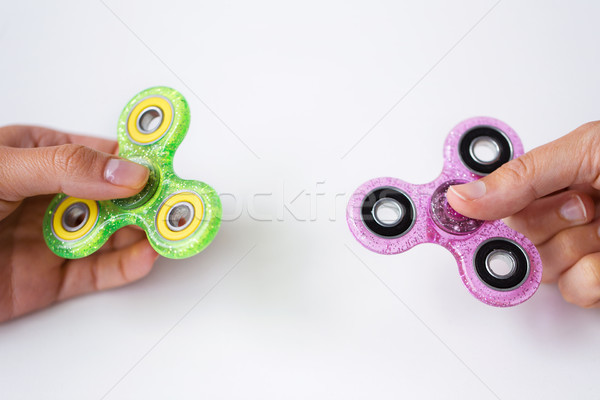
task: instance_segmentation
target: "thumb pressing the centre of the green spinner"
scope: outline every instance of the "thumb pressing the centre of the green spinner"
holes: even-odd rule
[[[78,144],[0,147],[0,196],[8,201],[61,192],[94,200],[129,197],[148,175],[142,165]]]

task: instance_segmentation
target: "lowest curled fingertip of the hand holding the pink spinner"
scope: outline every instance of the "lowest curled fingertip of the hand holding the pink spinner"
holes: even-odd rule
[[[600,253],[589,254],[558,278],[565,300],[580,307],[595,307],[600,302]]]

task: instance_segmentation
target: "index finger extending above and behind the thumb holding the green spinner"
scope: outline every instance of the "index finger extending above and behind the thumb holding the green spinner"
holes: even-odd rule
[[[75,135],[41,126],[11,125],[0,128],[0,145],[8,147],[48,147],[63,144],[81,144],[94,150],[115,154],[114,140]]]

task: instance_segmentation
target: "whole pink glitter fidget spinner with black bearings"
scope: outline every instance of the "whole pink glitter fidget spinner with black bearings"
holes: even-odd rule
[[[376,178],[350,197],[350,230],[366,248],[402,253],[420,243],[437,243],[454,255],[463,283],[480,301],[497,307],[529,299],[542,279],[535,246],[502,221],[467,218],[446,199],[451,185],[487,175],[523,154],[517,134],[488,117],[471,118],[450,131],[444,168],[425,185]]]

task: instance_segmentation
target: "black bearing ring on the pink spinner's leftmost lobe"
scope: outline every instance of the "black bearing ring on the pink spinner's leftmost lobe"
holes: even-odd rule
[[[384,199],[396,202],[402,209],[400,218],[393,224],[384,224],[375,215],[376,205]],[[361,215],[365,226],[371,232],[385,238],[395,238],[406,234],[413,227],[416,219],[415,207],[410,197],[392,187],[378,188],[365,196]]]

